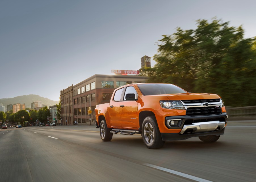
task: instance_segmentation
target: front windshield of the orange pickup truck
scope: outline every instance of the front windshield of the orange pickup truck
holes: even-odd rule
[[[143,95],[187,93],[180,87],[167,83],[138,84],[138,87]]]

